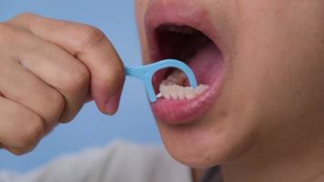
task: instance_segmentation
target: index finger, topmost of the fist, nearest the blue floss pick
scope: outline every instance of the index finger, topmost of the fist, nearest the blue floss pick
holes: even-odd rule
[[[57,21],[38,15],[21,15],[12,21],[33,34],[64,47],[81,60],[91,74],[91,94],[99,109],[114,114],[125,81],[124,66],[100,30],[89,25]],[[115,97],[115,98],[114,98]]]

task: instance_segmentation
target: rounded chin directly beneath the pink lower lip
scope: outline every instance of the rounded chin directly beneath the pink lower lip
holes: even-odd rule
[[[195,168],[226,164],[242,157],[257,132],[238,130],[228,116],[202,118],[187,126],[170,126],[157,120],[168,153],[178,162]],[[235,122],[234,122],[235,123]]]

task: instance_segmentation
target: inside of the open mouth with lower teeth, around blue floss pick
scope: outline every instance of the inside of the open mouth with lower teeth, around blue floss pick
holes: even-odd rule
[[[160,56],[174,58],[185,62],[190,66],[197,76],[198,86],[188,86],[187,77],[179,70],[167,69],[157,74],[154,86],[160,97],[168,100],[192,99],[203,94],[211,84],[210,76],[204,72],[204,68],[214,66],[215,62],[208,56],[218,56],[220,51],[207,35],[187,25],[159,25],[156,29],[157,45]],[[209,49],[209,50],[208,50]],[[204,62],[195,64],[195,61],[202,59]],[[209,63],[208,63],[209,62]],[[208,66],[208,67],[202,67]],[[206,71],[206,70],[205,70]]]

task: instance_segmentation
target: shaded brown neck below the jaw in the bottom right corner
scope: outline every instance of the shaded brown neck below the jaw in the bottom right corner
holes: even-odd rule
[[[324,136],[318,128],[303,128],[289,136],[268,136],[258,147],[222,165],[225,182],[324,181]],[[307,130],[307,131],[306,131]],[[258,142],[259,143],[259,142]]]

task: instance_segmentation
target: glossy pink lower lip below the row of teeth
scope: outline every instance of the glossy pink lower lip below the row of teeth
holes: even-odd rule
[[[204,54],[200,56],[204,56]],[[219,56],[213,57],[212,66],[200,66],[200,56],[194,57],[195,61],[190,61],[189,66],[195,72],[198,83],[207,84],[210,87],[203,94],[193,99],[157,99],[157,102],[152,104],[152,109],[158,122],[175,126],[192,124],[199,121],[199,118],[204,116],[208,109],[217,102],[224,75],[223,57],[219,53]]]

